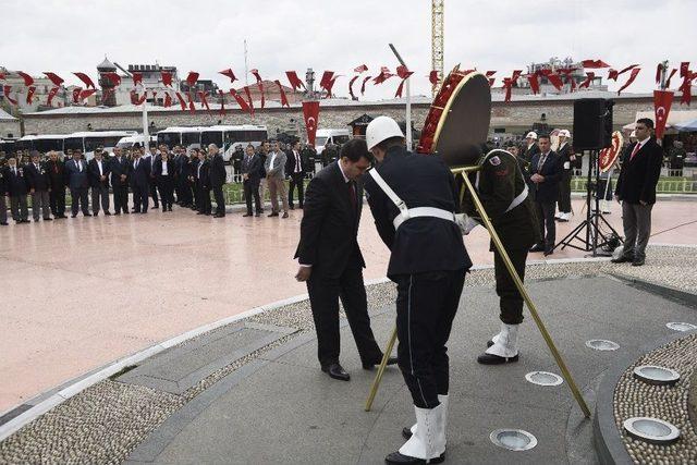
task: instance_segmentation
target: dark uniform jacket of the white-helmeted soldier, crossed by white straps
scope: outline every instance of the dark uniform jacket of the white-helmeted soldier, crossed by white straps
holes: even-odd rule
[[[413,155],[404,147],[391,147],[375,169],[408,208],[433,207],[453,212],[460,209],[455,180],[440,157]],[[365,179],[375,224],[392,252],[388,277],[472,267],[462,232],[453,221],[413,218],[395,232],[392,221],[399,209],[372,178],[366,174]]]

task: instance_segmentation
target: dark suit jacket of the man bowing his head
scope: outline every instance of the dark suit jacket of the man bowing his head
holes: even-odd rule
[[[313,266],[313,276],[339,278],[353,262],[365,268],[357,234],[363,187],[356,185],[356,211],[339,164],[329,164],[309,182],[295,257]],[[352,261],[356,260],[356,261]]]

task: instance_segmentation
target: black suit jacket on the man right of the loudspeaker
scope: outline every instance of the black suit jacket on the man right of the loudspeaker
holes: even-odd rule
[[[651,137],[631,159],[636,144],[627,146],[622,154],[622,170],[614,194],[629,204],[656,204],[656,185],[661,175],[663,149]]]

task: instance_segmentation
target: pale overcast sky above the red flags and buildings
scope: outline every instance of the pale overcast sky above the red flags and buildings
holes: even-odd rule
[[[71,73],[95,78],[106,54],[124,68],[175,65],[182,78],[197,71],[227,89],[230,81],[218,72],[232,68],[244,83],[246,40],[249,69],[262,78],[288,84],[285,71],[304,79],[307,68],[318,77],[331,70],[343,75],[334,93],[347,96],[355,66],[368,65],[364,76],[383,65],[394,71],[392,42],[415,72],[412,94],[430,95],[430,0],[0,0],[0,65],[33,75],[53,71],[80,85]],[[641,72],[627,89],[633,93],[656,88],[662,60],[675,68],[690,61],[697,69],[696,0],[445,0],[444,16],[445,71],[458,63],[497,70],[498,86],[514,69],[551,57],[602,59],[616,69],[639,63]],[[619,84],[608,84],[616,89],[622,83],[621,76]],[[368,85],[364,99],[391,98],[398,84],[393,77]]]

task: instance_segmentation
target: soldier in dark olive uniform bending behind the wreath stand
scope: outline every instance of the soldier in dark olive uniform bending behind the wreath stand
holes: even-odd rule
[[[523,281],[528,250],[539,242],[538,221],[524,174],[516,157],[505,150],[491,150],[482,157],[480,166],[479,171],[469,174],[470,180]],[[469,195],[463,200],[463,211],[475,220],[480,220]],[[523,296],[493,241],[489,249],[493,252],[501,331],[488,342],[487,351],[477,357],[477,362],[499,365],[518,360],[517,331],[523,321]]]

